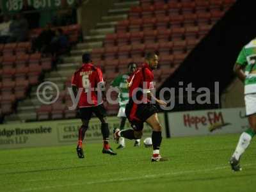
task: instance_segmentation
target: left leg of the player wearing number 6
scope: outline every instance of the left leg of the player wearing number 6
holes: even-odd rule
[[[84,140],[85,132],[88,129],[90,118],[92,117],[92,108],[80,108],[79,114],[83,124],[81,125],[78,131],[78,141],[77,141],[76,151],[77,151],[77,156],[79,158],[84,158],[83,140]]]

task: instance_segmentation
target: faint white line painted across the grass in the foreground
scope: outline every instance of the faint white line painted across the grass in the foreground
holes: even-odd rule
[[[255,164],[243,164],[243,166],[252,166]],[[159,174],[152,174],[152,175],[143,175],[140,177],[127,177],[127,178],[118,178],[118,179],[106,179],[106,180],[97,180],[97,181],[89,181],[89,182],[79,182],[74,184],[63,184],[63,185],[55,185],[55,186],[42,186],[40,188],[28,188],[21,190],[22,192],[25,191],[36,191],[36,190],[44,190],[44,189],[52,189],[52,188],[63,188],[68,186],[81,186],[81,185],[92,185],[92,184],[104,184],[108,182],[118,182],[118,181],[129,181],[129,180],[140,180],[140,179],[152,179],[156,177],[164,177],[168,175],[183,175],[188,173],[199,173],[199,172],[212,172],[214,170],[223,170],[225,168],[230,168],[230,166],[218,166],[216,168],[205,169],[205,170],[191,170],[191,171],[184,171],[184,172],[172,172],[172,173],[159,173]],[[231,170],[230,170],[231,172]]]

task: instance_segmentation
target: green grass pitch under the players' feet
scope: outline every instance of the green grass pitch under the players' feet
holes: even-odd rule
[[[151,163],[151,148],[131,141],[117,156],[86,145],[78,159],[75,145],[0,150],[0,191],[255,191],[256,143],[231,172],[228,160],[239,134],[163,140],[168,162]],[[113,148],[116,147],[112,143]]]

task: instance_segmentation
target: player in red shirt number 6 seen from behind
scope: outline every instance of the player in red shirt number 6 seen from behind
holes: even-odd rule
[[[101,122],[101,132],[103,136],[102,153],[116,155],[109,147],[109,128],[106,120],[106,109],[103,106],[102,97],[100,97],[102,92],[104,92],[102,72],[100,68],[93,65],[90,54],[88,53],[83,54],[83,66],[79,68],[72,77],[72,90],[75,97],[77,97],[79,90],[82,90],[79,97],[78,108],[83,125],[81,125],[79,129],[79,138],[76,148],[77,156],[84,158],[82,143],[92,113],[94,113]]]

